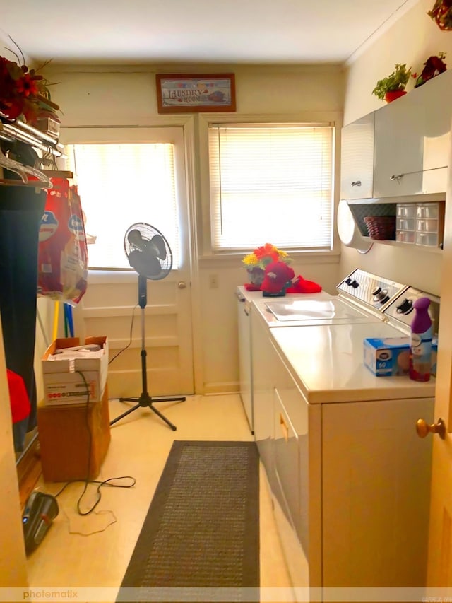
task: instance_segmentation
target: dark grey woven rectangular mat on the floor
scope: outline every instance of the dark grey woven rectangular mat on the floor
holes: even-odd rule
[[[117,601],[259,601],[254,442],[175,441]]]

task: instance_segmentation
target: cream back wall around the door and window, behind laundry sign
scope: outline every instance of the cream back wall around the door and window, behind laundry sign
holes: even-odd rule
[[[49,71],[53,100],[64,112],[64,127],[99,125],[148,125],[166,116],[157,114],[155,73],[193,72],[193,66],[173,65],[165,69],[140,67],[136,69],[71,69]],[[196,66],[196,71],[218,72],[217,66]],[[307,66],[222,66],[221,71],[235,74],[237,113],[246,115],[309,115],[335,112],[342,118],[343,72],[338,67]],[[227,118],[227,114],[225,114]],[[314,119],[314,117],[313,117]],[[196,116],[196,122],[198,116]],[[196,124],[197,125],[197,124]],[[200,178],[199,144],[196,141],[196,181]],[[206,206],[199,192],[196,205],[198,240],[206,228]],[[263,243],[266,241],[263,241]],[[271,241],[270,241],[271,242]],[[208,250],[204,250],[206,254]],[[200,256],[203,250],[200,249]],[[241,258],[208,259],[200,257],[198,274],[200,294],[194,300],[201,310],[202,324],[194,325],[196,337],[201,337],[198,349],[202,350],[202,382],[197,393],[235,391],[238,387],[237,311],[234,291],[246,281]],[[339,280],[338,258],[329,263],[298,261],[296,274],[321,283],[327,291],[334,291]],[[209,274],[218,274],[218,289],[208,288]],[[89,286],[89,283],[88,283]]]

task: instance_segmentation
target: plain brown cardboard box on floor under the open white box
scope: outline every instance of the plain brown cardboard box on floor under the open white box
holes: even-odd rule
[[[89,404],[88,409],[86,404],[48,406],[40,402],[37,428],[45,481],[95,479],[111,439],[107,385],[102,400]]]

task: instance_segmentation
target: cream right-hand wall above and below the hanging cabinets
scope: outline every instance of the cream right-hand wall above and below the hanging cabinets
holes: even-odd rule
[[[406,63],[413,72],[420,74],[424,62],[432,54],[446,52],[446,64],[452,69],[452,33],[441,31],[427,15],[433,4],[433,0],[420,0],[348,66],[345,73],[344,124],[382,106],[383,102],[371,91],[377,80],[393,71],[396,63]],[[414,85],[415,80],[411,78],[408,93]],[[428,85],[427,82],[425,86]],[[342,247],[340,274],[347,274],[356,267],[440,294],[439,254],[376,243],[368,254],[361,255],[350,247]]]

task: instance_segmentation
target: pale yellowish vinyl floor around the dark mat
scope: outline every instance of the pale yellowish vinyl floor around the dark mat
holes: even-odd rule
[[[127,404],[112,400],[110,418],[121,414]],[[173,441],[253,439],[236,394],[191,396],[186,402],[155,406],[177,431],[149,409],[138,409],[112,426],[112,441],[97,479],[131,476],[136,479],[135,486],[101,488],[102,498],[93,512],[79,515],[78,508],[86,513],[94,505],[97,490],[89,486],[83,493],[83,483],[69,484],[58,497],[57,519],[28,558],[30,587],[95,589],[97,600],[112,599],[112,589],[121,584]],[[262,467],[260,471],[261,587],[290,588]],[[117,479],[114,484],[130,482]],[[52,494],[61,486],[64,484],[38,484]],[[100,589],[106,589],[104,599],[99,598]],[[79,594],[78,600],[81,598]]]

